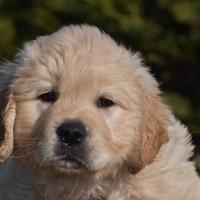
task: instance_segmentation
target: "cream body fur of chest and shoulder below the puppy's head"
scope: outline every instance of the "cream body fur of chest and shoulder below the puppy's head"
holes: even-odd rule
[[[59,191],[71,185],[71,180],[57,177],[48,180],[33,173],[28,166],[10,160],[0,169],[1,199],[86,199],[87,193],[98,196],[95,190],[106,190],[108,200],[199,200],[200,181],[193,163],[188,161],[193,150],[190,136],[178,121],[168,127],[168,135],[169,142],[163,145],[155,161],[136,175],[122,172],[123,178],[88,183],[84,190],[74,180],[74,188],[63,198]],[[124,176],[127,176],[125,181]]]

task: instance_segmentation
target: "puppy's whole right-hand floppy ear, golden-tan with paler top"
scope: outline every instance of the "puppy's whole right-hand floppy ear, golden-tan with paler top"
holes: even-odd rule
[[[135,158],[130,158],[132,164],[129,166],[137,172],[152,163],[161,146],[168,141],[166,129],[171,112],[162,102],[158,84],[148,69],[139,66],[135,76],[141,89],[143,117],[138,129],[138,151],[134,152]]]

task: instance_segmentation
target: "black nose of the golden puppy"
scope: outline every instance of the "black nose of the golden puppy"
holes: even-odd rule
[[[68,146],[78,145],[86,137],[85,126],[78,121],[61,124],[57,128],[56,133],[60,141]]]

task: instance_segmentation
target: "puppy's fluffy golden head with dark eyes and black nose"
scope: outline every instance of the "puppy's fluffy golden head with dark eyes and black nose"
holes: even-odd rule
[[[14,155],[36,168],[140,169],[167,141],[156,81],[138,54],[95,27],[64,27],[27,43],[6,72]]]

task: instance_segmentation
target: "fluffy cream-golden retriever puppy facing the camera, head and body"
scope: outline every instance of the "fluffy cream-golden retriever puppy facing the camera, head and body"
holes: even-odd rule
[[[98,28],[26,43],[0,94],[1,200],[200,199],[186,128],[140,56]]]

